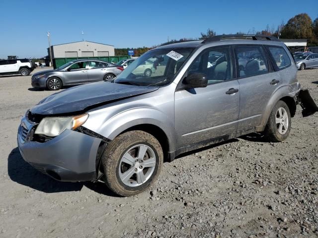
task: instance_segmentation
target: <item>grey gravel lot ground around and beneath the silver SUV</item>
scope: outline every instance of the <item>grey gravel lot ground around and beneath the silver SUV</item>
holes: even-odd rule
[[[318,103],[318,69],[298,78]],[[284,143],[252,134],[188,153],[165,163],[153,188],[122,198],[23,161],[20,118],[52,94],[30,80],[0,76],[0,237],[318,237],[318,114],[303,119],[298,106]]]

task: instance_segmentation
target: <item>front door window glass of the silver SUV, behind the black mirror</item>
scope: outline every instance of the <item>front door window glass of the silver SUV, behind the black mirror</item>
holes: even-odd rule
[[[230,48],[210,48],[203,51],[191,64],[188,73],[203,73],[208,84],[232,78]]]

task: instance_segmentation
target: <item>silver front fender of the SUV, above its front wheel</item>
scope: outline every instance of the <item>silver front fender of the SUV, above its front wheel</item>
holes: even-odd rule
[[[141,124],[152,124],[158,126],[165,133],[168,138],[169,150],[175,150],[176,135],[173,117],[168,118],[166,114],[149,106],[134,107],[125,111],[121,111],[120,108],[120,105],[117,105],[101,109],[103,110],[102,114],[100,113],[101,110],[88,112],[89,117],[82,126],[107,139],[113,140],[116,136],[130,127]],[[110,111],[115,113],[110,115],[108,114]],[[100,121],[102,123],[95,123],[95,121]]]

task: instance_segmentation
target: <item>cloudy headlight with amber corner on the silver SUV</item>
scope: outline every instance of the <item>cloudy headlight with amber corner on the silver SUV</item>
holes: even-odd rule
[[[66,129],[75,130],[80,125],[84,124],[88,118],[88,114],[82,114],[75,117],[58,117],[44,118],[35,130],[35,134],[47,136],[57,136]]]

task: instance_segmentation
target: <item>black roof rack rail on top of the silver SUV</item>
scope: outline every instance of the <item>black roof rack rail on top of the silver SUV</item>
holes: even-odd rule
[[[254,41],[280,41],[274,36],[264,35],[219,35],[212,36],[205,39],[202,43],[215,42],[215,41],[226,41],[226,40],[254,40]]]

